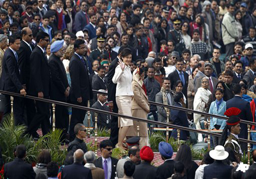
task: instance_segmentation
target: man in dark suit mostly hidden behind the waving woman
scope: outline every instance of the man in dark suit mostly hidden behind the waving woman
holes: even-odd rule
[[[108,73],[108,101],[109,101],[109,109],[112,112],[118,113],[118,108],[117,108],[117,101],[116,101],[116,90],[117,90],[117,84],[114,84],[112,82],[112,78],[115,74],[115,69],[118,65],[118,61],[120,60],[120,52],[124,49],[124,47],[120,47],[118,51],[118,56],[115,60],[113,60],[110,63],[109,66],[109,73]],[[115,146],[118,141],[118,117],[117,116],[112,116],[111,119],[111,130],[110,130],[110,138],[109,140],[113,143]]]

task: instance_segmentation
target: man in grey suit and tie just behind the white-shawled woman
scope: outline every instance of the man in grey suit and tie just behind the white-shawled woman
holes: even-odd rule
[[[215,90],[215,86],[218,83],[218,79],[215,78],[215,77],[212,77],[211,76],[212,73],[213,73],[213,65],[211,63],[205,63],[204,64],[204,75],[205,76],[203,76],[203,77],[208,78],[208,80],[209,80],[209,87],[208,87],[208,89],[213,94],[214,90]],[[199,78],[196,79],[195,93],[196,93],[197,89],[201,86],[201,80],[202,80],[203,77],[199,77]]]

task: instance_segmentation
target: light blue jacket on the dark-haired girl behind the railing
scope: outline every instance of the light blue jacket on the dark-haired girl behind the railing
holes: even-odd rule
[[[209,114],[215,114],[219,116],[225,116],[224,112],[226,111],[226,101],[222,101],[222,103],[219,105],[219,108],[217,110],[217,104],[216,101],[213,101],[211,103],[210,109],[209,109]],[[216,117],[211,117],[210,118],[210,128],[214,129],[215,124],[220,125],[221,127],[219,129],[224,129],[226,126],[226,120],[225,119],[219,119]]]

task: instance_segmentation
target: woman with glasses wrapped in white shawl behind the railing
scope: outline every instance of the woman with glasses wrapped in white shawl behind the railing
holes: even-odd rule
[[[207,111],[207,103],[209,101],[209,96],[211,95],[211,91],[208,89],[209,80],[208,78],[204,77],[201,80],[201,87],[197,89],[196,95],[194,98],[193,107],[194,110],[200,112]],[[200,120],[204,119],[204,116],[200,114],[194,113],[194,123],[196,124],[196,129],[201,129]],[[198,135],[198,141],[203,141],[202,134]]]

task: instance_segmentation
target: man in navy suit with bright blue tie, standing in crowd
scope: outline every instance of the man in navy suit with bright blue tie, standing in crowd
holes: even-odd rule
[[[171,89],[175,91],[175,85],[178,80],[183,83],[182,93],[187,97],[188,90],[188,74],[183,71],[184,62],[183,59],[177,59],[176,70],[168,75],[171,82]]]

